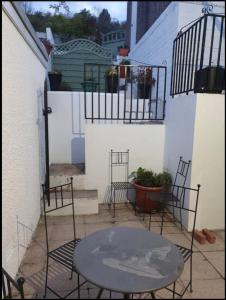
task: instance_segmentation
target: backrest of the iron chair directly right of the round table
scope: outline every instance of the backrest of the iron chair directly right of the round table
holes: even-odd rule
[[[200,184],[197,185],[197,189],[175,185],[174,192],[176,195],[178,195],[178,194],[181,195],[180,201],[174,201],[173,198],[171,201],[169,201],[168,194],[165,193],[165,196],[167,197],[167,206],[177,209],[178,214],[179,213],[181,214],[182,221],[183,221],[184,216],[186,216],[187,218],[189,218],[191,220],[190,222],[188,222],[191,224],[191,227],[192,227],[191,228],[192,229],[191,230],[191,234],[192,234],[191,250],[193,249],[193,242],[194,242],[194,230],[195,230],[195,225],[196,225],[199,190],[200,190]],[[186,215],[185,215],[185,212],[187,212]],[[183,222],[182,222],[182,224],[183,224]]]

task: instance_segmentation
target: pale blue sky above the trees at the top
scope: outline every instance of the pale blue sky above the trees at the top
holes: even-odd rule
[[[43,12],[53,12],[53,9],[49,8],[50,4],[56,4],[57,1],[29,1],[34,10],[40,10]],[[103,8],[106,8],[111,15],[112,19],[117,19],[120,22],[126,20],[127,14],[127,1],[66,1],[66,4],[70,7],[72,13],[80,12],[86,8],[92,14],[98,16]]]

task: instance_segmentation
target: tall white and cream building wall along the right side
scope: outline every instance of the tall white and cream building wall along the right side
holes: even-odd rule
[[[222,1],[208,2],[208,4],[213,5],[213,13],[224,12]],[[166,64],[164,168],[174,176],[180,156],[192,161],[186,185],[195,188],[197,184],[201,184],[197,227],[222,229],[224,228],[223,209],[225,206],[222,169],[224,165],[222,97],[224,96],[200,95],[193,92],[174,98],[170,96],[173,40],[183,26],[202,15],[203,7],[204,4],[199,1],[170,3],[131,49],[129,58],[135,63]],[[224,65],[224,62],[222,61],[221,64]],[[216,99],[218,97],[219,99]],[[204,99],[208,101],[207,107]],[[219,101],[219,107],[214,99]],[[221,111],[217,122],[215,118],[218,118],[218,113],[216,113],[218,109]],[[207,132],[210,132],[210,135]],[[219,176],[216,175],[217,173]],[[215,178],[220,179],[215,180]],[[192,201],[192,198],[190,200]],[[190,220],[188,220],[188,228],[191,225]]]

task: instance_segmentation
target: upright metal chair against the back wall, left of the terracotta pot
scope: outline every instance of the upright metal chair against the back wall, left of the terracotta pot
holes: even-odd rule
[[[115,202],[116,202],[116,191],[119,190],[126,190],[128,193],[128,189],[130,188],[130,183],[128,181],[129,176],[129,150],[125,152],[116,152],[111,150],[111,157],[110,157],[110,168],[111,168],[111,197],[110,197],[110,203],[109,206],[113,203],[113,218],[115,217]],[[119,168],[123,168],[124,171],[124,177],[122,180],[119,181],[119,179],[116,181],[116,169],[119,170]],[[121,172],[123,172],[121,170]],[[117,173],[119,176],[119,172]]]

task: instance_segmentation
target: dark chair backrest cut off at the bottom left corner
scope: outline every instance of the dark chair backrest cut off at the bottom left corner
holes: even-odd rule
[[[13,287],[19,292],[21,299],[24,299],[24,289],[23,284],[25,279],[19,277],[17,280],[14,280],[4,268],[2,268],[2,295],[3,299],[13,299]],[[17,295],[15,295],[17,298]]]

